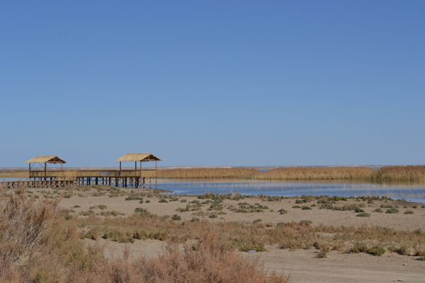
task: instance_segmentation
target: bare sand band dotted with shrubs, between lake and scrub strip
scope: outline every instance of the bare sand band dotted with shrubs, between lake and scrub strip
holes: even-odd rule
[[[125,201],[125,197],[108,197],[107,195],[100,197],[72,197],[69,199],[63,199],[61,206],[67,209],[74,209],[78,214],[81,211],[87,211],[90,207],[95,207],[99,204],[104,204],[108,208],[105,210],[115,210],[122,212],[125,215],[131,215],[134,213],[137,207],[146,208],[152,214],[158,215],[174,215],[179,214],[183,220],[190,220],[193,218],[193,214],[196,212],[176,212],[179,207],[186,207],[188,202],[198,200],[197,197],[187,196],[176,196],[179,197],[179,201],[161,203],[158,202],[159,198],[152,197],[151,199],[145,197],[144,200],[150,200],[150,203],[140,204],[138,200]],[[187,200],[187,202],[180,202],[181,200]],[[199,200],[203,202],[205,200]],[[365,212],[370,213],[370,217],[356,217],[357,213],[353,211],[336,211],[330,209],[319,209],[320,204],[317,207],[312,207],[310,210],[293,209],[295,205],[298,206],[309,206],[315,202],[308,202],[307,204],[295,204],[295,199],[282,200],[280,202],[267,202],[258,199],[244,199],[244,200],[225,200],[223,204],[225,207],[233,205],[237,207],[239,202],[247,202],[249,204],[259,203],[266,205],[269,209],[261,213],[236,213],[229,209],[223,209],[227,214],[219,215],[217,219],[210,219],[208,216],[196,216],[199,219],[209,219],[209,221],[247,221],[252,222],[256,219],[261,219],[262,223],[279,223],[279,222],[299,222],[301,220],[310,220],[313,225],[323,224],[325,226],[385,226],[397,230],[408,230],[413,231],[416,229],[425,230],[425,208],[421,208],[422,204],[416,204],[416,209],[412,208],[414,203],[400,203],[400,202],[375,202],[375,204],[367,204],[367,202],[356,202],[351,200],[348,202],[339,201],[335,206],[344,206],[344,204],[365,204],[363,208]],[[373,212],[373,210],[380,207],[381,204],[394,204],[399,205],[399,213],[397,214],[385,214]],[[407,208],[404,205],[407,204]],[[75,205],[80,207],[74,208]],[[207,211],[210,204],[205,204],[202,208],[203,211]],[[288,214],[279,214],[279,209],[285,209]],[[273,210],[273,212],[271,212]],[[382,208],[385,212],[387,209]],[[414,214],[404,214],[405,211],[413,211]],[[94,209],[96,213],[101,212],[100,209]]]

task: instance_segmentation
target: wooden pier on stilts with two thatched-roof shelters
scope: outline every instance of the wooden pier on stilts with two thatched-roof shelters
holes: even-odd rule
[[[126,154],[117,161],[120,168],[116,170],[83,169],[63,170],[62,163],[66,161],[57,156],[37,156],[30,163],[28,171],[0,171],[1,178],[21,178],[25,180],[2,181],[0,187],[67,187],[69,185],[111,185],[114,187],[158,188],[157,161],[161,159],[152,154]],[[121,162],[135,162],[134,170],[123,170]],[[142,169],[142,162],[155,161],[155,169]],[[140,168],[137,163],[140,162]],[[42,170],[34,170],[32,163],[44,163]],[[47,163],[61,163],[60,170],[47,169]],[[154,184],[153,184],[154,183]]]

